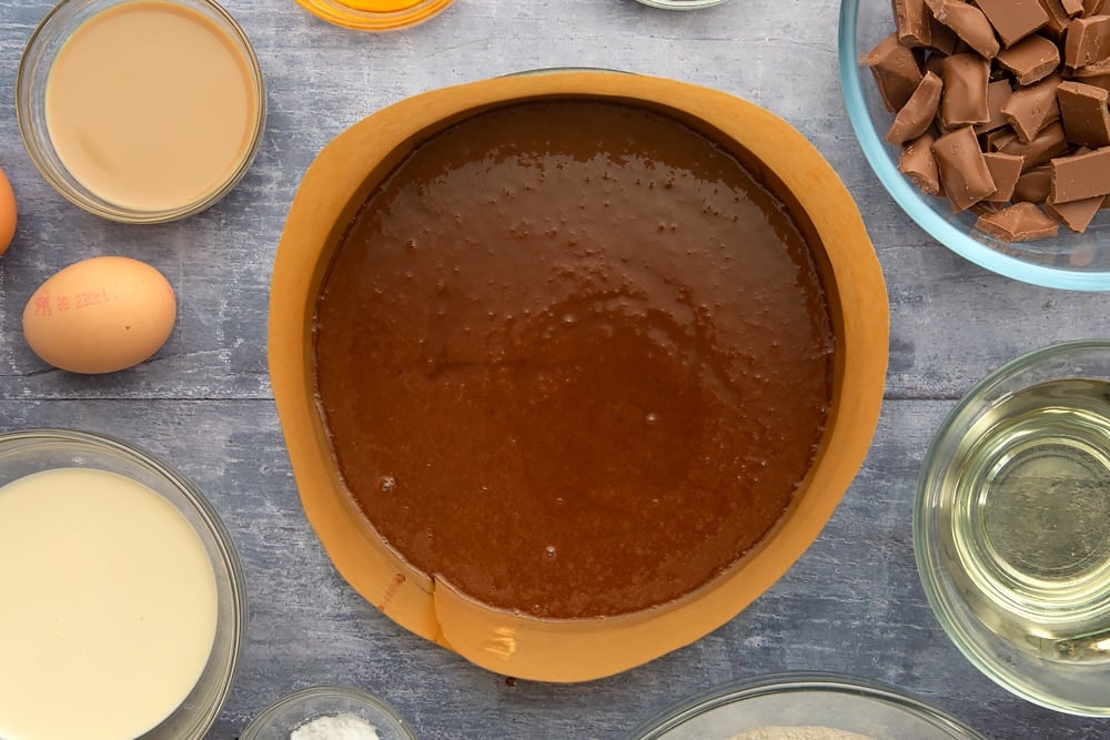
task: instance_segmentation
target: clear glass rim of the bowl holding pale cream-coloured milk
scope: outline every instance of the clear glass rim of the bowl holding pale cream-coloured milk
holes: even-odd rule
[[[77,445],[94,449],[107,455],[119,455],[128,462],[149,468],[157,476],[163,478],[181,496],[181,501],[169,501],[170,505],[174,508],[179,508],[179,504],[183,503],[188,505],[188,507],[191,508],[195,515],[198,515],[201,521],[203,521],[206,534],[212,537],[220,555],[219,565],[214,561],[214,558],[212,559],[213,571],[216,571],[221,566],[226,571],[225,577],[231,597],[228,602],[229,615],[224,618],[226,619],[226,624],[231,630],[226,652],[218,653],[218,643],[214,642],[212,646],[212,655],[205,663],[204,671],[206,672],[209,670],[212,661],[215,659],[225,660],[228,663],[226,668],[220,671],[220,673],[215,677],[219,679],[219,688],[214,692],[214,701],[210,704],[194,707],[192,711],[198,718],[198,722],[194,727],[186,728],[190,734],[185,737],[198,739],[204,737],[219,718],[220,711],[226,702],[228,697],[231,695],[231,689],[235,683],[235,676],[239,672],[243,648],[246,645],[249,614],[246,571],[243,568],[243,564],[234,539],[231,536],[231,531],[228,529],[226,525],[224,525],[220,513],[209,500],[208,496],[204,495],[200,487],[198,487],[196,484],[189,478],[189,476],[178,470],[161,456],[112,435],[99,432],[83,432],[68,427],[32,427],[0,433],[0,447],[7,446],[10,443],[22,443],[32,447],[38,446],[39,444]],[[130,476],[127,477],[130,478]],[[164,498],[162,494],[158,495]],[[208,548],[205,547],[205,549]],[[214,576],[218,584],[216,588],[220,590],[220,574],[214,572]],[[202,673],[202,676],[198,679],[196,686],[200,686],[203,678],[204,676]],[[185,702],[174,709],[173,713],[168,716],[165,719],[173,717],[173,714],[188,704],[189,700],[186,699]],[[151,728],[150,732],[157,732],[159,727],[161,727],[161,724]]]

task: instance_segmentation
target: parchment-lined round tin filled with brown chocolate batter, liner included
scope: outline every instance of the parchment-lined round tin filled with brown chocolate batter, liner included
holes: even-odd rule
[[[488,670],[582,681],[699,639],[806,550],[867,454],[887,342],[859,212],[801,134],[563,70],[327,144],[269,352],[351,586]]]

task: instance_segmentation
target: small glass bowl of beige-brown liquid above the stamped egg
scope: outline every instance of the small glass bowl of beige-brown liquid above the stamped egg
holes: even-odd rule
[[[221,200],[254,160],[265,114],[251,42],[213,0],[62,0],[16,78],[34,166],[70,202],[124,223]]]

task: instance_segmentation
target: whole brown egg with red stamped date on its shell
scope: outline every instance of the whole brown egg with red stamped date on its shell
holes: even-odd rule
[[[162,273],[129,257],[74,263],[47,280],[23,310],[23,336],[54,367],[113,373],[148,359],[176,318]]]

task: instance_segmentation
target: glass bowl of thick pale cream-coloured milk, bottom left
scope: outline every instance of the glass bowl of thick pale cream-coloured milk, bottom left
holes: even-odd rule
[[[83,432],[0,435],[0,738],[200,740],[220,713],[243,570],[162,460]]]

